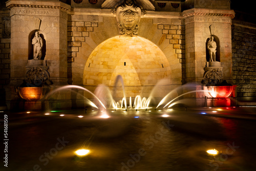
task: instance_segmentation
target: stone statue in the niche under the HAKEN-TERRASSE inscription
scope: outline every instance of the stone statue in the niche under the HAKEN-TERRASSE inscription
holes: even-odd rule
[[[41,59],[42,46],[44,46],[44,42],[42,41],[42,38],[40,37],[38,31],[35,32],[35,37],[32,39],[32,45],[34,45],[34,48],[33,48],[34,59]]]

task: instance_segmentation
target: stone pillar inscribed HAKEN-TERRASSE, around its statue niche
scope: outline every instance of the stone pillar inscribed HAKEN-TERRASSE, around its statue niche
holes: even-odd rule
[[[28,60],[33,59],[31,44],[36,31],[44,39],[45,48],[37,60],[46,61],[53,86],[67,84],[67,12],[71,7],[56,1],[13,0],[6,6],[11,17],[11,73],[6,100],[11,109],[11,101],[17,101],[15,88],[26,79]]]

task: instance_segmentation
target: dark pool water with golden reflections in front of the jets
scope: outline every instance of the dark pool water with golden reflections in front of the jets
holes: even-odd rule
[[[139,118],[136,111],[114,112],[108,119],[90,112],[83,118],[59,114],[10,121],[9,170],[254,170],[252,120],[184,111],[170,111],[166,118],[157,111],[140,111]],[[69,142],[55,154],[57,138]],[[82,146],[91,153],[77,157]],[[214,148],[222,156],[207,156]]]

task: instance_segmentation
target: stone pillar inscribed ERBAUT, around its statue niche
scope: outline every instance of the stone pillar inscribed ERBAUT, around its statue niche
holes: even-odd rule
[[[220,62],[223,79],[229,83],[232,81],[232,51],[231,51],[231,19],[234,17],[233,10],[217,9],[188,9],[183,11],[185,23],[185,59],[186,59],[186,82],[201,83],[204,79],[204,68],[209,67],[209,52],[207,41],[210,36],[215,37],[217,42],[216,61]],[[202,90],[198,86],[197,90]],[[203,94],[195,96],[200,101]],[[199,102],[201,103],[201,102]],[[199,104],[200,105],[200,104]]]

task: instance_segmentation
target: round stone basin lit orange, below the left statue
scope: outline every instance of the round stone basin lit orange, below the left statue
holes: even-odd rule
[[[45,95],[42,87],[18,88],[19,96],[25,100],[40,100]]]

